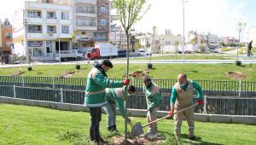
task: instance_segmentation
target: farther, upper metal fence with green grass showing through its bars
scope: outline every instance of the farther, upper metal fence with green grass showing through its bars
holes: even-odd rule
[[[113,78],[123,80],[123,78]],[[176,79],[153,79],[160,86],[163,94],[170,95]],[[256,96],[256,82],[245,81],[218,81],[195,80],[201,85],[203,94],[207,96]],[[132,78],[131,84],[137,87],[138,92],[143,91],[143,80]],[[63,88],[70,90],[84,90],[86,78],[60,78],[60,77],[26,77],[26,76],[0,76],[0,85],[32,86],[47,88]]]

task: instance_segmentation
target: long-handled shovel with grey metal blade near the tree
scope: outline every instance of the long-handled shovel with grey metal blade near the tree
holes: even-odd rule
[[[189,109],[189,108],[191,108],[191,107],[195,107],[196,105],[198,105],[198,102],[196,102],[195,104],[193,104],[193,105],[191,105],[191,106],[189,106],[189,107],[185,107],[185,108],[183,108],[183,109],[177,111],[176,113],[181,113],[181,112],[183,112],[183,111],[185,111],[185,110],[187,110],[187,109]],[[142,135],[142,134],[144,133],[143,127],[148,126],[148,125],[150,125],[150,124],[153,124],[153,123],[155,123],[155,122],[158,122],[158,121],[160,121],[160,120],[162,120],[162,119],[166,119],[166,118],[168,118],[168,117],[170,117],[170,115],[166,115],[166,116],[163,117],[163,118],[156,119],[156,120],[154,120],[154,121],[152,121],[152,122],[149,122],[149,123],[146,124],[146,125],[141,125],[141,123],[139,122],[139,123],[137,123],[136,125],[134,125],[134,126],[131,128],[131,135],[132,135],[132,136],[140,136],[140,135]]]

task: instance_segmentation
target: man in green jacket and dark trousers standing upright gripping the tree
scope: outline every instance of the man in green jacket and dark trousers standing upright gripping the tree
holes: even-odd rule
[[[95,63],[90,70],[85,89],[84,107],[90,108],[90,142],[104,142],[100,136],[100,122],[102,120],[101,107],[106,105],[106,88],[119,88],[130,84],[130,79],[113,81],[106,73],[112,68],[112,62],[103,60]]]

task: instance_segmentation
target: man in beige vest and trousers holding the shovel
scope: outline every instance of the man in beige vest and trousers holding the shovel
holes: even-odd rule
[[[201,86],[193,80],[188,80],[184,73],[178,75],[177,83],[172,87],[172,96],[170,99],[171,110],[169,112],[170,116],[172,116],[174,112],[192,105],[194,89],[197,91],[198,105],[202,105],[204,101]],[[183,116],[186,118],[189,125],[189,140],[195,140],[194,107],[174,115],[174,134],[178,139],[181,137]]]

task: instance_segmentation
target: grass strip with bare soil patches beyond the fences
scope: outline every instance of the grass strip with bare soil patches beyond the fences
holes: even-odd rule
[[[81,69],[77,71],[75,65],[55,65],[55,66],[33,66],[32,71],[28,72],[26,67],[0,68],[0,75],[13,75],[24,71],[24,76],[55,76],[60,77],[61,74],[68,71],[76,71],[72,76],[74,78],[87,77],[92,65],[81,64]],[[187,73],[189,78],[195,80],[236,80],[224,75],[228,72],[241,72],[246,74],[243,81],[256,81],[256,65],[248,64],[237,67],[234,64],[154,64],[154,69],[150,70],[153,78],[177,78],[178,73]],[[147,64],[130,64],[130,73],[135,71],[143,71],[147,68]],[[108,78],[122,78],[125,74],[125,64],[114,64],[113,68],[108,72]]]

